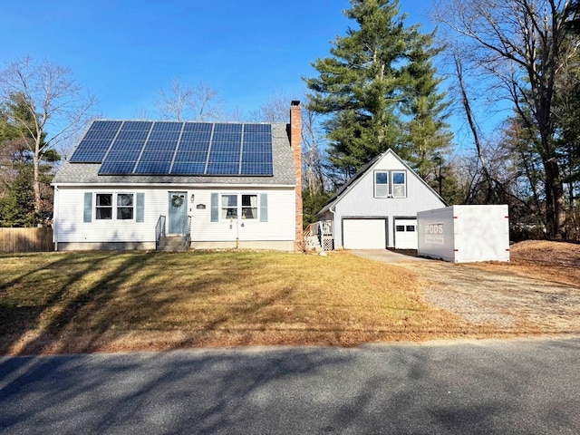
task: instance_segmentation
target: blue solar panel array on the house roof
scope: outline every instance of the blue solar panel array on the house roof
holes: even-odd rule
[[[100,175],[271,176],[270,124],[93,121],[71,163]]]

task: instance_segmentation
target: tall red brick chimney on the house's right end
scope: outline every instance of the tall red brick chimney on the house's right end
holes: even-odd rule
[[[290,103],[290,147],[294,155],[295,168],[295,205],[296,205],[296,236],[295,250],[304,249],[304,232],[302,228],[302,109],[300,102]]]

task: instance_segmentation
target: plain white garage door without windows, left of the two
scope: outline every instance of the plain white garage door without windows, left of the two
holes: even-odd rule
[[[343,247],[384,249],[387,247],[385,219],[344,219]]]

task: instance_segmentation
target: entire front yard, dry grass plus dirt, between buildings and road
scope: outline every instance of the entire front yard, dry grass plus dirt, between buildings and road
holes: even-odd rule
[[[512,247],[511,258],[509,264],[402,267],[347,252],[0,255],[0,354],[350,346],[576,331],[574,307],[554,304],[576,300],[580,246],[524,242]],[[495,275],[482,279],[484,272]],[[514,278],[498,288],[498,275]],[[538,281],[518,286],[517,276]],[[568,287],[547,295],[542,283]],[[474,285],[482,287],[474,291]],[[507,327],[502,307],[523,320]],[[485,322],[474,320],[482,315]]]

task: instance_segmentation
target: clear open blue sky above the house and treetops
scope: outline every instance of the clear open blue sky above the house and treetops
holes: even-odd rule
[[[427,27],[428,0],[401,0]],[[103,118],[159,118],[160,89],[205,82],[224,111],[248,115],[301,76],[344,34],[347,0],[0,0],[0,68],[30,55],[69,68]],[[427,28],[426,27],[426,28]],[[425,28],[425,31],[426,31]],[[237,121],[237,120],[236,120]]]

